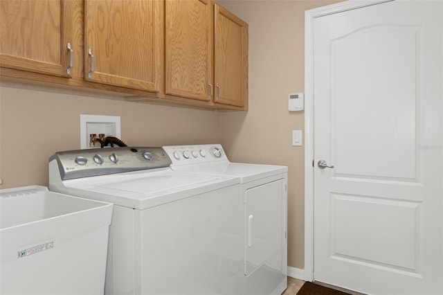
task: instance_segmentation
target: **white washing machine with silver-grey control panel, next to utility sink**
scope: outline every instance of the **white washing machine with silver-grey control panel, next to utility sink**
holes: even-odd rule
[[[57,152],[49,188],[114,203],[105,294],[240,294],[239,177],[169,166],[159,147]]]

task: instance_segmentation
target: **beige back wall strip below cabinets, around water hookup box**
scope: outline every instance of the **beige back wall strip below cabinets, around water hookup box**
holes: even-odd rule
[[[49,92],[24,84],[0,85],[0,189],[47,186],[48,158],[60,150],[80,149],[80,114],[120,116],[121,137],[127,145],[219,142],[215,111],[94,98],[57,89]]]

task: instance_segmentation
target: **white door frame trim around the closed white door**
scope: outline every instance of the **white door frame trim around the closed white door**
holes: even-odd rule
[[[305,12],[305,280],[314,280],[314,19],[394,0],[350,0]]]

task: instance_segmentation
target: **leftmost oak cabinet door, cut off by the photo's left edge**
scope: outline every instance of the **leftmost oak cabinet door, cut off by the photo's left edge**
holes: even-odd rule
[[[64,76],[63,0],[0,0],[0,66]]]

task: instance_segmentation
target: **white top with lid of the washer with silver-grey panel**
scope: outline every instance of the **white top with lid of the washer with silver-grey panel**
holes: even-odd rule
[[[238,177],[145,170],[63,181],[68,193],[143,210],[239,184]]]

